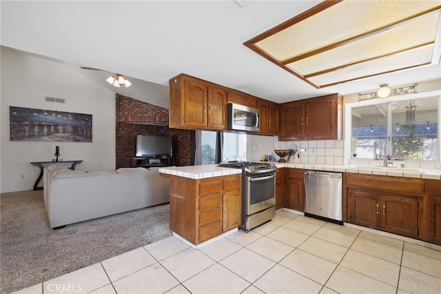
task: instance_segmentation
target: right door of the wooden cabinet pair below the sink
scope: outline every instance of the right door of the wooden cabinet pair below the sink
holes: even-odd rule
[[[407,237],[418,237],[418,199],[382,195],[380,210],[382,229]]]

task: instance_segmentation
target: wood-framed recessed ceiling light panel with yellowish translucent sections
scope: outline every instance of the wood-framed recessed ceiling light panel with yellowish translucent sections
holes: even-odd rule
[[[436,1],[324,1],[244,44],[316,88],[439,63]]]

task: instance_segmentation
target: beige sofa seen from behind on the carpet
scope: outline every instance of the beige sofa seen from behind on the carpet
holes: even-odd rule
[[[170,179],[158,168],[85,172],[44,169],[44,204],[51,228],[170,202]]]

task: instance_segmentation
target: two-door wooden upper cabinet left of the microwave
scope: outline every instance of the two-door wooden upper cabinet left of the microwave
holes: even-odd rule
[[[170,128],[227,129],[227,91],[201,79],[170,79]]]

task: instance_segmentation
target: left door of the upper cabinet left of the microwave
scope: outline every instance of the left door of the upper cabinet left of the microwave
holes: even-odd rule
[[[196,79],[185,79],[184,125],[207,126],[207,86]]]

